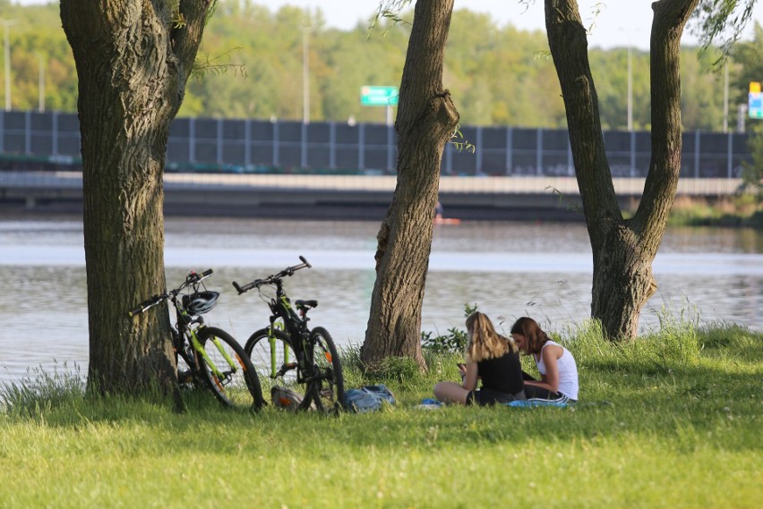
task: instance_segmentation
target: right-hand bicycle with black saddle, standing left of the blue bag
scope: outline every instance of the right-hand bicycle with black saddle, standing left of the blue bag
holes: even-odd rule
[[[233,282],[239,295],[256,288],[272,313],[270,326],[253,333],[244,352],[261,371],[261,386],[270,386],[271,394],[280,384],[302,398],[283,403],[296,404],[297,410],[339,411],[345,408],[345,389],[337,348],[325,328],[307,327],[307,312],[318,306],[318,301],[294,301],[292,306],[283,288],[285,277],[313,267],[304,257],[299,259],[301,264],[264,279],[244,285]],[[275,296],[263,293],[263,287],[274,287]],[[299,386],[304,386],[304,392]]]

